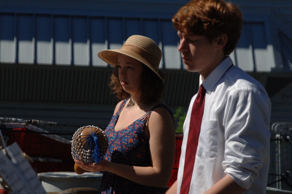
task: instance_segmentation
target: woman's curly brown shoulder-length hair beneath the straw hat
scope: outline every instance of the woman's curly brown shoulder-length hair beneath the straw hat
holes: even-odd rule
[[[139,90],[142,91],[140,101],[142,103],[149,103],[155,101],[163,95],[164,84],[162,80],[146,65],[142,65],[143,71],[141,75],[141,82]],[[113,69],[109,88],[112,93],[116,93],[117,98],[129,98],[130,94],[124,91],[118,74],[118,67]]]

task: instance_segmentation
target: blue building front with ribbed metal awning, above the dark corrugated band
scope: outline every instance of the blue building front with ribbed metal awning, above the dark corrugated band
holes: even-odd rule
[[[161,68],[185,68],[171,17],[187,1],[14,2],[0,2],[0,63],[106,67],[98,51],[120,48],[129,36],[141,34],[161,48]],[[245,19],[230,55],[235,65],[246,71],[292,71],[292,4],[234,2]]]

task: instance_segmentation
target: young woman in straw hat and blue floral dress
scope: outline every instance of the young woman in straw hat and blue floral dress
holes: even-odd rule
[[[105,129],[104,160],[75,162],[89,172],[103,171],[101,193],[164,193],[173,168],[175,129],[171,110],[160,98],[161,50],[152,39],[133,35],[121,49],[102,50],[98,57],[115,67],[110,88],[123,100]]]

